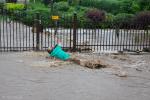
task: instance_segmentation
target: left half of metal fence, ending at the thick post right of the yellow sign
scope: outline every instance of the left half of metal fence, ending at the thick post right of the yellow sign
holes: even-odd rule
[[[21,12],[11,14],[5,10],[0,11],[0,51],[47,50],[58,43],[65,50],[72,48],[73,31],[70,18],[65,22],[56,22],[49,15],[50,25],[43,27],[40,13],[32,15],[32,22],[29,24],[23,21],[24,16],[31,17]]]

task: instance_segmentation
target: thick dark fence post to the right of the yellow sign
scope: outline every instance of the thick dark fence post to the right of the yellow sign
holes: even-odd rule
[[[76,48],[76,39],[77,39],[77,14],[74,13],[73,16],[73,51],[77,50]]]

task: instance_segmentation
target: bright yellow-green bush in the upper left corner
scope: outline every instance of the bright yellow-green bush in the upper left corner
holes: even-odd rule
[[[9,10],[9,11],[14,11],[14,10],[23,10],[25,7],[24,4],[16,4],[16,3],[6,3],[4,5],[4,8]]]

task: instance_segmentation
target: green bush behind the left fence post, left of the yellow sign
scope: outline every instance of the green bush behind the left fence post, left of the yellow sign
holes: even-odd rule
[[[43,27],[48,26],[50,22],[50,12],[47,10],[14,11],[9,17],[12,20],[22,22],[25,25],[33,26],[37,13],[39,13],[39,19],[41,20]]]

